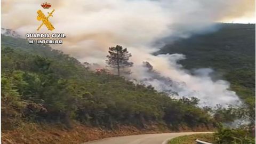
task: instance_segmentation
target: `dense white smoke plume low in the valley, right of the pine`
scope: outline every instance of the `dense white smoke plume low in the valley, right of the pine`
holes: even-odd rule
[[[194,75],[191,75],[181,65],[177,65],[177,61],[184,58],[182,54],[152,56],[152,61],[148,61],[156,69],[156,73],[139,66],[134,67],[132,77],[143,84],[152,85],[158,91],[174,94],[174,97],[196,97],[200,100],[199,106],[215,107],[218,104],[228,106],[241,103],[236,93],[228,90],[228,82],[211,79],[212,69],[196,69]]]

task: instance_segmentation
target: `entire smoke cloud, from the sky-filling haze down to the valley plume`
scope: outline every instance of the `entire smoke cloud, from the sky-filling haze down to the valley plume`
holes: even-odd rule
[[[3,0],[2,27],[27,33],[38,33],[41,24],[36,20],[36,11],[45,1]],[[54,45],[73,57],[90,63],[105,65],[108,47],[116,44],[127,47],[132,53],[134,78],[143,80],[151,75],[142,66],[149,61],[162,76],[169,77],[175,84],[164,85],[153,79],[145,81],[157,90],[177,91],[186,97],[198,97],[201,105],[215,106],[238,103],[237,95],[229,91],[225,81],[212,81],[204,70],[192,76],[177,65],[183,58],[180,54],[154,56],[153,44],[157,39],[189,37],[198,31],[212,28],[213,22],[239,17],[254,16],[253,0],[52,0],[55,9],[50,21],[54,33],[65,33],[63,45]],[[42,27],[39,33],[49,33]],[[200,72],[200,73],[199,73]],[[200,75],[199,75],[200,74]],[[202,75],[203,74],[203,75]]]

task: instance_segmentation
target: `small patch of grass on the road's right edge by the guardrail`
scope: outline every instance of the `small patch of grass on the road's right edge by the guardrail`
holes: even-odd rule
[[[168,144],[196,144],[196,139],[213,142],[213,134],[192,134],[171,139]]]

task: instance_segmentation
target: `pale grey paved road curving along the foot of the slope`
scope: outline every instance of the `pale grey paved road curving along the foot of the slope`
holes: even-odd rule
[[[114,137],[101,140],[85,142],[83,144],[162,144],[167,139],[179,137],[181,135],[211,133],[211,132],[179,132],[179,133],[158,133],[158,134],[140,134],[125,137]]]

